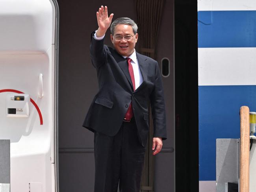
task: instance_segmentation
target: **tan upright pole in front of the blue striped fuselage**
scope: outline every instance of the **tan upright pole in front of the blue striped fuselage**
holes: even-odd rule
[[[240,108],[240,192],[249,192],[250,118],[249,107]]]

